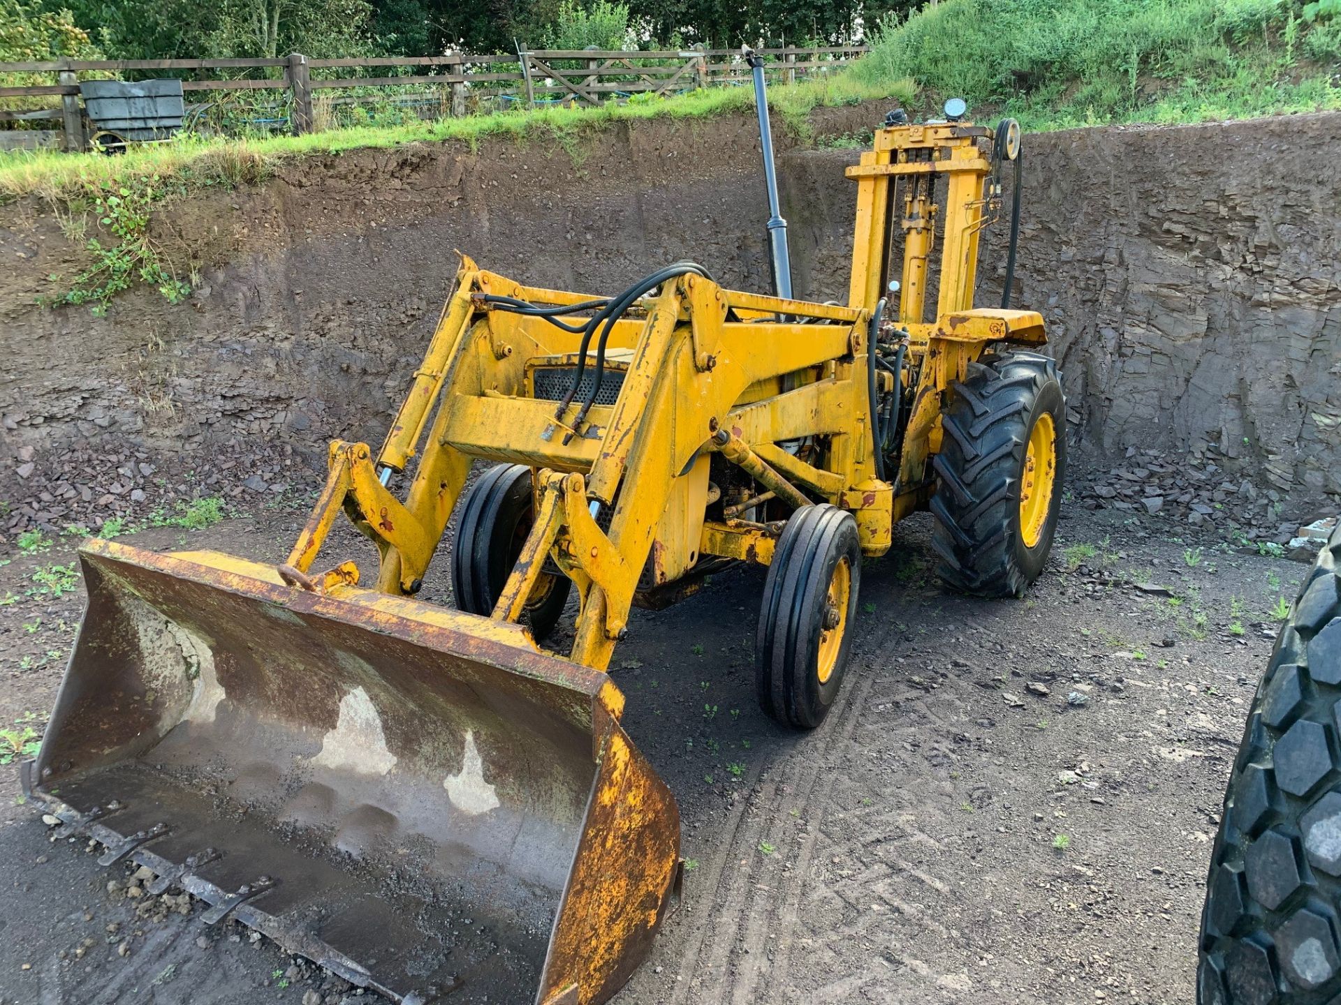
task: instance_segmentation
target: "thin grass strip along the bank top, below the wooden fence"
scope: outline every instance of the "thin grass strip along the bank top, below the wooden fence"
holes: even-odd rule
[[[770,87],[768,106],[787,129],[806,137],[807,115],[815,107],[878,98],[908,103],[915,91],[908,79],[874,80],[834,74]],[[205,139],[186,135],[172,143],[133,147],[119,157],[13,150],[0,153],[0,201],[21,196],[39,196],[52,202],[97,197],[109,189],[131,188],[146,178],[157,178],[158,189],[165,193],[233,186],[259,181],[284,158],[413,142],[456,141],[472,147],[491,138],[554,142],[579,162],[582,138],[590,130],[653,118],[711,118],[752,107],[754,91],[750,87],[711,87],[672,98],[610,103],[597,109],[561,106],[499,111],[401,126],[355,126],[300,137]]]

